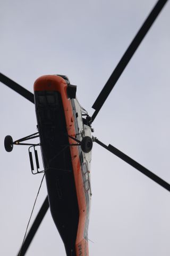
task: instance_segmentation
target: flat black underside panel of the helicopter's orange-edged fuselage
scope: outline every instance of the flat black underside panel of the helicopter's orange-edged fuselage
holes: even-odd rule
[[[79,208],[61,95],[38,91],[35,103],[50,211],[67,256],[74,256]]]

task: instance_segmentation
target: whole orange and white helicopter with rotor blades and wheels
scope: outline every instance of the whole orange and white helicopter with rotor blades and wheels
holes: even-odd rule
[[[35,174],[42,172],[39,171],[36,150],[36,147],[40,146],[48,192],[18,255],[22,256],[27,252],[48,207],[50,207],[53,220],[63,240],[66,255],[89,255],[88,226],[92,195],[90,163],[93,142],[111,151],[170,191],[170,185],[166,181],[112,145],[106,146],[91,135],[91,132],[94,132],[91,127],[92,122],[166,2],[167,0],[159,0],[143,23],[92,106],[95,109],[92,117],[81,107],[76,97],[77,86],[71,85],[66,76],[39,77],[34,84],[34,94],[32,94],[10,78],[0,74],[2,83],[35,103],[38,124],[37,133],[22,139],[13,141],[12,137],[7,135],[4,142],[5,149],[10,152],[13,145],[29,145],[31,171]],[[37,137],[40,139],[38,144],[24,142]],[[31,148],[35,152],[37,172],[34,171]]]

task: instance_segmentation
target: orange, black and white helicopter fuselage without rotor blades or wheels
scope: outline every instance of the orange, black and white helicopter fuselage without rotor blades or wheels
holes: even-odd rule
[[[60,76],[38,78],[35,107],[50,212],[67,256],[88,256],[91,151],[84,153],[73,138],[91,137],[91,128],[83,122],[86,110],[71,99],[68,87]]]

